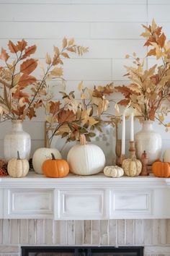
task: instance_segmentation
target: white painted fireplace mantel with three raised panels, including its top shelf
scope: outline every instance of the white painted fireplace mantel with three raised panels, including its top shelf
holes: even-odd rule
[[[0,218],[170,218],[170,179],[98,174],[50,179],[30,172],[0,179]]]

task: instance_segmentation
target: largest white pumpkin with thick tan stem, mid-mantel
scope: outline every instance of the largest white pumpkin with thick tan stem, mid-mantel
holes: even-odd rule
[[[68,152],[67,161],[73,174],[98,174],[105,165],[105,155],[101,148],[87,144],[86,137],[80,136],[80,145],[74,145]]]

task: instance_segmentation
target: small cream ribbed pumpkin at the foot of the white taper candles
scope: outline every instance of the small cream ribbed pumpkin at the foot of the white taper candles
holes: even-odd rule
[[[122,161],[122,168],[127,176],[138,176],[142,171],[142,163],[136,158],[127,158]]]

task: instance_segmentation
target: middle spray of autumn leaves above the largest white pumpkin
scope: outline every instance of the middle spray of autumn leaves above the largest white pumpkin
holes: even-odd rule
[[[61,92],[63,101],[48,101],[46,104],[46,121],[48,122],[47,132],[50,133],[49,144],[55,135],[66,137],[66,141],[79,140],[84,134],[87,141],[96,135],[95,129],[102,132],[104,124],[115,126],[120,122],[120,113],[108,114],[109,103],[112,100],[107,96],[114,93],[113,84],[105,86],[94,86],[94,90],[84,88],[83,82],[78,86],[81,101],[75,99],[74,92],[69,94]],[[115,103],[117,107],[117,104]]]

